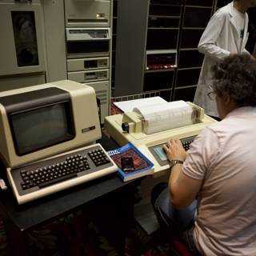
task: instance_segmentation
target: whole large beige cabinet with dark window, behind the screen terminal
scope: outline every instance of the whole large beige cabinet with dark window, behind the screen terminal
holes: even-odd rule
[[[64,1],[0,0],[0,91],[66,79],[63,19]]]

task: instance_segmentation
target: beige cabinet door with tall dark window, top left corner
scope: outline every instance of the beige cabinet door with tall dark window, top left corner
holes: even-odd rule
[[[0,2],[0,21],[4,24],[0,27],[0,76],[37,73],[39,78],[44,77],[46,46],[42,20],[43,7],[39,0],[29,4]]]

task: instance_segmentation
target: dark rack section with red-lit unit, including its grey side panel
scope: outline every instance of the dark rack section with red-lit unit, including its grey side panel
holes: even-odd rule
[[[118,0],[114,96],[158,90],[170,100],[181,1]]]

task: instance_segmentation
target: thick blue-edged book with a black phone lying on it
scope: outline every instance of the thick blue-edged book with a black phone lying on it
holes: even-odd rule
[[[154,164],[130,142],[107,153],[118,166],[118,174],[124,182],[154,174]],[[122,170],[122,158],[133,158],[134,170]]]

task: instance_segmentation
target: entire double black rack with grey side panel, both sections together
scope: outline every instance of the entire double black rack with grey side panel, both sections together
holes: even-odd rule
[[[193,101],[204,58],[197,46],[213,10],[214,0],[118,0],[114,96]]]

